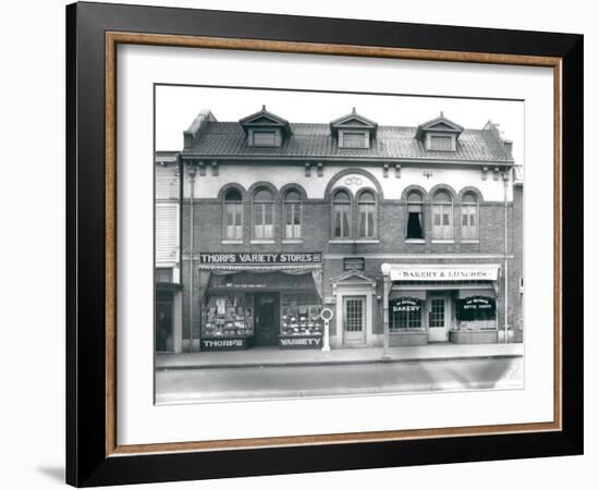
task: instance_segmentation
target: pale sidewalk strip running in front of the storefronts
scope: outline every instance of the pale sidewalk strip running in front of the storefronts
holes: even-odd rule
[[[247,351],[158,354],[156,369],[239,368],[266,366],[306,366],[329,364],[372,364],[418,360],[521,357],[523,344],[429,344],[391,347],[382,358],[382,347],[317,350],[279,350],[254,347]]]

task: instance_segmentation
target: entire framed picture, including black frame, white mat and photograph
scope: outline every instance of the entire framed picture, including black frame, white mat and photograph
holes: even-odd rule
[[[66,8],[66,480],[583,452],[583,36]]]

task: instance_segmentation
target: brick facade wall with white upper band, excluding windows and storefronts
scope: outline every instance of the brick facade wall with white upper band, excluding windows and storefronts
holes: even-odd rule
[[[454,168],[435,171],[430,179],[421,175],[423,168],[402,169],[401,176],[396,177],[394,169],[390,168],[388,176],[383,176],[381,168],[352,167],[340,175],[340,171],[347,169],[349,163],[339,168],[323,169],[323,176],[317,176],[317,169],[311,169],[309,177],[305,176],[305,169],[294,166],[255,166],[255,164],[222,164],[218,175],[212,175],[211,169],[206,169],[205,175],[196,174],[194,186],[194,289],[195,296],[190,309],[190,212],[191,200],[182,201],[182,283],[183,294],[183,339],[190,336],[190,316],[193,316],[193,336],[199,336],[200,297],[197,290],[199,273],[197,270],[197,254],[199,252],[321,252],[323,254],[323,297],[330,301],[332,281],[342,274],[343,257],[365,257],[365,275],[376,281],[372,302],[372,333],[382,333],[382,274],[383,262],[396,264],[497,264],[501,268],[498,282],[499,295],[497,303],[498,323],[500,330],[504,324],[504,293],[505,278],[505,212],[508,212],[508,280],[509,308],[506,323],[512,327],[521,318],[521,297],[518,292],[519,277],[522,275],[522,256],[515,256],[518,249],[522,254],[522,191],[512,194],[511,177],[503,181],[502,175],[493,175],[492,171],[485,175],[480,169]],[[419,179],[417,175],[420,175]],[[331,241],[331,189],[344,184],[346,177],[360,176],[362,184],[350,191],[355,193],[360,187],[377,191],[378,200],[378,235],[377,243],[334,243]],[[184,184],[184,196],[190,196],[190,182]],[[272,244],[252,243],[252,204],[248,189],[264,182],[274,186],[277,191],[274,204],[274,238]],[[424,205],[425,243],[414,244],[405,241],[406,230],[406,192],[419,182],[428,194]],[[244,189],[243,201],[243,243],[223,243],[223,189],[229,184],[236,184]],[[279,191],[288,184],[300,184],[307,195],[303,201],[302,243],[282,243],[282,203]],[[437,186],[447,185],[453,196],[453,243],[433,243],[430,191]],[[477,243],[462,243],[461,238],[461,192],[475,188],[481,200],[479,201],[479,240]],[[381,198],[382,194],[382,198]],[[508,203],[504,203],[508,196]],[[514,199],[512,199],[514,197]],[[519,200],[518,200],[519,199]],[[519,221],[518,221],[519,220]],[[519,260],[519,262],[518,262]],[[327,303],[329,306],[334,306]],[[332,307],[333,311],[335,310]],[[330,323],[331,341],[335,340],[335,318]]]

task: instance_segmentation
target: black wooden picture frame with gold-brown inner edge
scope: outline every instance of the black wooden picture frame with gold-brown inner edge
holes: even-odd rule
[[[115,48],[119,44],[552,68],[553,421],[119,445],[115,418]],[[84,2],[66,8],[66,481],[70,485],[87,487],[583,453],[583,36]]]

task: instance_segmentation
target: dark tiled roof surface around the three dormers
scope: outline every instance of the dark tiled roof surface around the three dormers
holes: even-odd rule
[[[281,147],[252,147],[237,122],[211,122],[197,135],[185,155],[206,157],[358,157],[389,159],[431,159],[496,161],[512,163],[503,143],[489,130],[464,130],[457,138],[456,151],[427,151],[416,139],[416,127],[379,126],[370,148],[339,148],[328,124],[292,123],[292,135]]]

